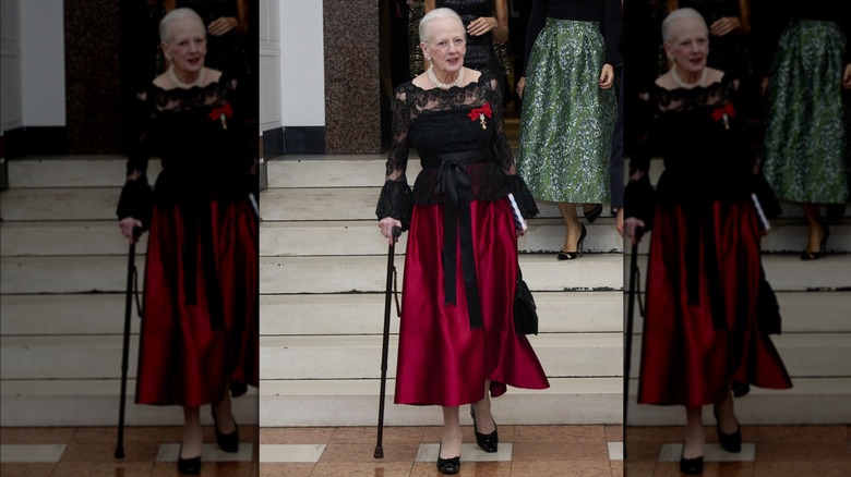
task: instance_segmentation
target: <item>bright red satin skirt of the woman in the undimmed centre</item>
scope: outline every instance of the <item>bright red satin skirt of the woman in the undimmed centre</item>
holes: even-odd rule
[[[443,205],[415,206],[405,256],[396,370],[397,404],[457,406],[499,396],[506,386],[549,388],[526,335],[514,331],[517,236],[507,198],[470,204],[483,327],[470,329],[460,245],[457,305],[444,299]],[[459,242],[459,241],[458,241]]]

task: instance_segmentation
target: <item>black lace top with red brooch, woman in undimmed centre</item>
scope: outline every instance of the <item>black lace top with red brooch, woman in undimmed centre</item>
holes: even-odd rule
[[[465,164],[471,200],[494,200],[511,192],[525,217],[538,213],[535,199],[515,175],[498,87],[493,75],[482,73],[477,82],[464,87],[425,90],[407,82],[396,88],[387,181],[375,211],[379,220],[393,217],[407,229],[413,204],[442,200],[435,192],[442,159],[470,154],[480,158]],[[412,191],[405,174],[411,148],[417,149],[423,169]]]

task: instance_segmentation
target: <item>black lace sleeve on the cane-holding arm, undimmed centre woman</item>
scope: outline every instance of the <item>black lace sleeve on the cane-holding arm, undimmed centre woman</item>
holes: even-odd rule
[[[413,209],[413,198],[405,171],[408,167],[408,130],[411,123],[411,107],[405,85],[396,88],[393,100],[393,144],[385,168],[386,181],[381,188],[375,216],[379,220],[393,217],[408,230]]]

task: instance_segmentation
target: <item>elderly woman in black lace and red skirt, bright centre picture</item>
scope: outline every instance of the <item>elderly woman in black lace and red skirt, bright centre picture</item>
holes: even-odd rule
[[[456,474],[458,406],[472,404],[476,441],[496,452],[488,393],[549,387],[513,325],[517,231],[508,193],[526,216],[537,208],[515,174],[498,80],[464,66],[460,17],[432,10],[420,23],[420,40],[430,68],[396,88],[376,216],[388,241],[394,227],[410,231],[395,402],[443,407],[438,469]],[[422,163],[412,191],[405,175],[411,147]]]

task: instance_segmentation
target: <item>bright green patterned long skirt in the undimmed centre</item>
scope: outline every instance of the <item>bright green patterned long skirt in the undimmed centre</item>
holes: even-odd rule
[[[538,200],[610,201],[614,88],[599,23],[547,19],[526,69],[517,170]]]

